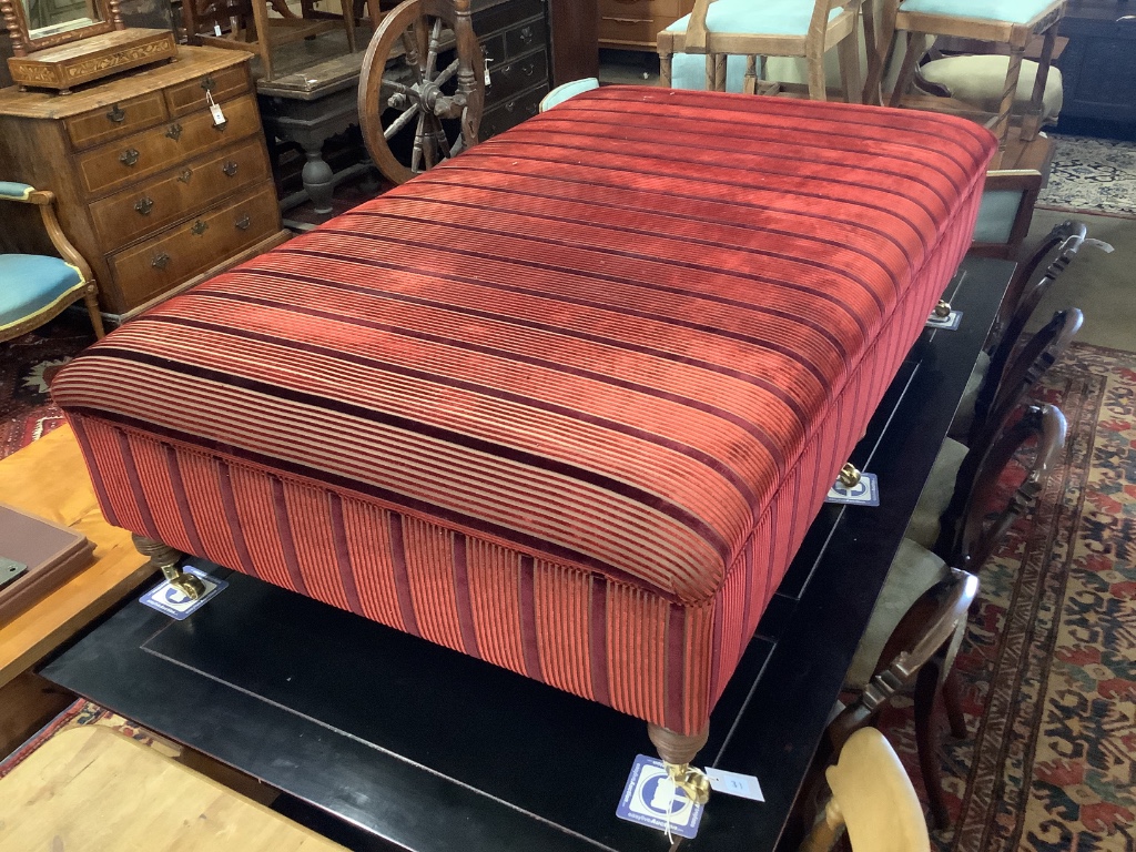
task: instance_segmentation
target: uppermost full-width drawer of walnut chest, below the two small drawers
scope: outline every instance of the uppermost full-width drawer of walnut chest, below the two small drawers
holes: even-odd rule
[[[222,105],[226,123],[217,127],[209,111],[192,112],[76,158],[76,172],[90,194],[117,190],[204,153],[229,140],[260,131],[251,94]]]

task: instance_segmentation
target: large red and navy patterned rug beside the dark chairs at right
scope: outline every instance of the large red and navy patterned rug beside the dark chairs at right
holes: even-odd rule
[[[1069,420],[1066,460],[980,571],[944,852],[1136,849],[1136,354],[1074,346],[1037,395]],[[882,727],[922,795],[909,707]]]

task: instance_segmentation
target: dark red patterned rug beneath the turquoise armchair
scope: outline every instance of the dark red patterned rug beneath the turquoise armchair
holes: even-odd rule
[[[93,342],[85,314],[65,311],[34,332],[0,343],[0,459],[64,421],[48,396],[48,383]]]

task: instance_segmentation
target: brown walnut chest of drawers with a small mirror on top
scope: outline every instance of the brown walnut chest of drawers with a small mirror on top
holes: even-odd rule
[[[0,164],[0,179],[56,193],[109,314],[287,239],[242,53],[183,47],[177,61],[70,95],[6,89]],[[19,222],[0,229],[0,249],[31,240]]]

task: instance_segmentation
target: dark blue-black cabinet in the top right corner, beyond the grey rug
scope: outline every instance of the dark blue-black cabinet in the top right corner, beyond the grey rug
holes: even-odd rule
[[[1136,124],[1136,0],[1071,0],[1060,32],[1062,117]]]

